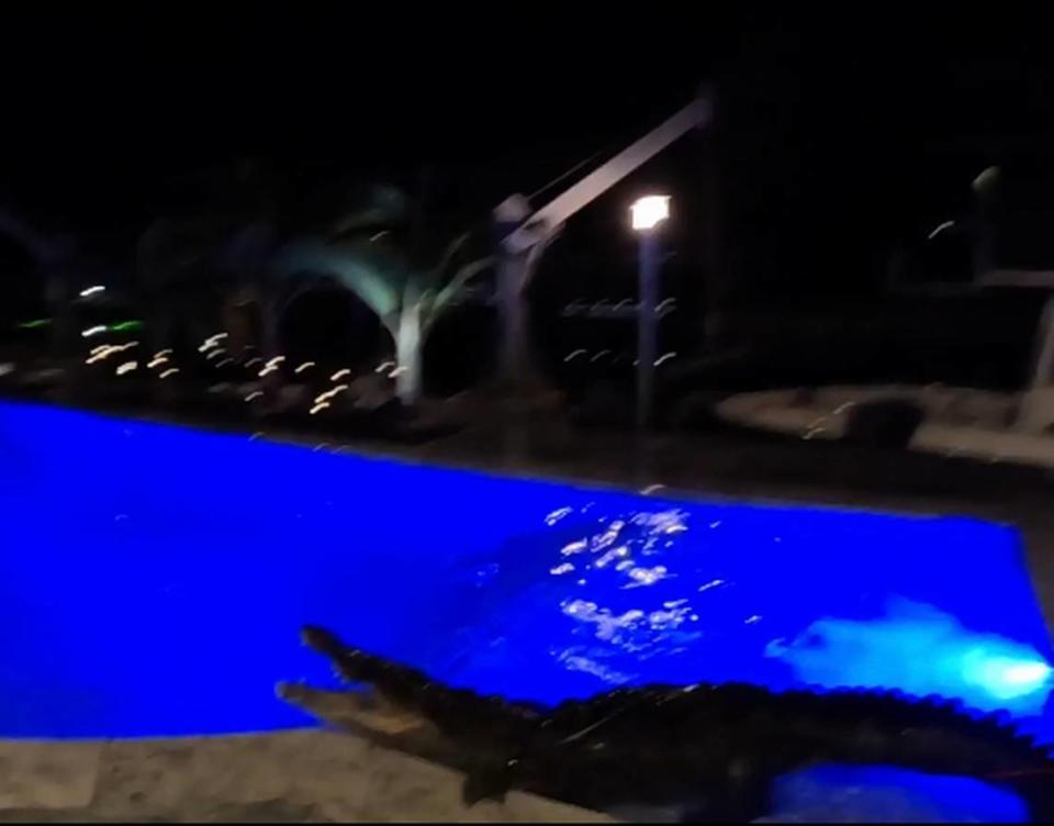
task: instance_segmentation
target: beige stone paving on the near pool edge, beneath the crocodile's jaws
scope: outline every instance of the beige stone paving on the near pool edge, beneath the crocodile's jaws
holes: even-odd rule
[[[0,744],[0,822],[606,823],[531,794],[461,803],[450,769],[348,734]]]

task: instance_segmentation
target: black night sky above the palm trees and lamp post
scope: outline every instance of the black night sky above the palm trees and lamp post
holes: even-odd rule
[[[173,180],[251,157],[303,202],[303,181],[413,187],[430,165],[447,203],[485,214],[709,81],[718,127],[652,177],[691,200],[717,159],[726,266],[763,290],[870,283],[987,163],[1054,146],[1028,8],[38,5],[0,30],[0,198],[135,224]]]

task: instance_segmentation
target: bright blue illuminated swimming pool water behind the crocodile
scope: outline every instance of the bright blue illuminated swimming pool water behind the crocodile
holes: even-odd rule
[[[1011,528],[674,501],[0,405],[0,736],[304,725],[316,624],[487,693],[881,684],[1046,726]]]

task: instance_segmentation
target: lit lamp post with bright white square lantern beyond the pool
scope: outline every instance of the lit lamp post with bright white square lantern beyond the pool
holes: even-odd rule
[[[659,230],[670,217],[668,196],[646,196],[630,208],[631,225],[640,236],[639,303],[637,306],[637,426],[644,429],[651,420],[652,383],[655,372],[659,293]]]

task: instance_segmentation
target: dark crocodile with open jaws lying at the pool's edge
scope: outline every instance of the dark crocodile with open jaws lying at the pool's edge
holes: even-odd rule
[[[322,628],[302,638],[362,687],[333,695],[321,716],[369,706],[418,721],[461,756],[469,805],[516,789],[597,811],[662,806],[683,821],[747,822],[767,812],[775,778],[841,762],[973,777],[1018,794],[1036,822],[1054,816],[1047,748],[1007,715],[974,716],[955,701],[722,683],[617,688],[546,706],[445,685]],[[279,694],[304,696],[295,685]]]

